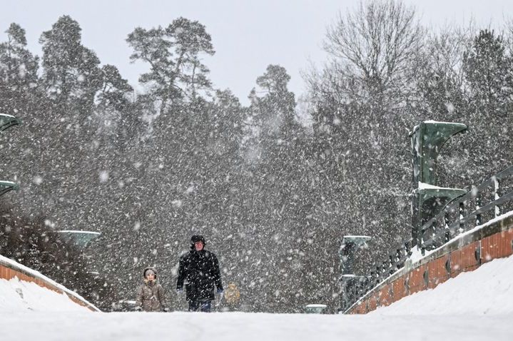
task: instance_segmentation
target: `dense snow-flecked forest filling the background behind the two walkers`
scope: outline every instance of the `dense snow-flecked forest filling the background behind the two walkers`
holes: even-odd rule
[[[415,124],[469,126],[440,153],[444,186],[511,166],[513,25],[427,28],[401,1],[364,1],[327,27],[329,58],[306,69],[306,93],[268,61],[248,106],[213,88],[215,46],[198,21],[128,33],[144,91],[83,45],[70,16],[41,34],[41,56],[21,26],[5,29],[0,112],[24,124],[0,137],[2,180],[21,185],[1,198],[0,254],[103,310],[133,299],[148,265],[183,309],[178,258],[200,233],[244,310],[334,312],[342,236],[372,236],[365,268],[411,235]],[[55,230],[101,237],[78,250]]]

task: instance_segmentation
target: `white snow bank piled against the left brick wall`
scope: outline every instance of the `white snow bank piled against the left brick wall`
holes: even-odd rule
[[[23,310],[91,312],[73,302],[65,293],[59,294],[18,278],[0,279],[0,312]]]

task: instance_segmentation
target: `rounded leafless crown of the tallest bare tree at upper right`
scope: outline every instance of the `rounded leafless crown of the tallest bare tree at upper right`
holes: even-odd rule
[[[324,49],[349,91],[380,106],[404,103],[415,79],[424,30],[402,1],[362,1],[328,27]]]

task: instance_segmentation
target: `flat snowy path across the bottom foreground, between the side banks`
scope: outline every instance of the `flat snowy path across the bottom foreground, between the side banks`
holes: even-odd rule
[[[0,340],[512,340],[513,315],[0,313]]]

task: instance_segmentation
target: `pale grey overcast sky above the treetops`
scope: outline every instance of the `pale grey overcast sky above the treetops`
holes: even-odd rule
[[[322,64],[322,39],[326,26],[339,12],[354,9],[357,0],[1,0],[0,40],[11,22],[26,29],[29,49],[41,55],[39,36],[51,29],[59,16],[68,14],[82,28],[82,41],[96,52],[101,63],[116,65],[123,77],[136,86],[138,75],[147,70],[142,63],[131,64],[126,36],[136,26],[167,26],[184,16],[198,20],[212,36],[216,51],[205,56],[210,78],[216,88],[230,88],[242,103],[255,80],[270,63],[284,66],[290,88],[303,93],[300,71],[308,60]],[[427,26],[467,24],[499,27],[513,17],[509,0],[406,0],[416,6]]]

